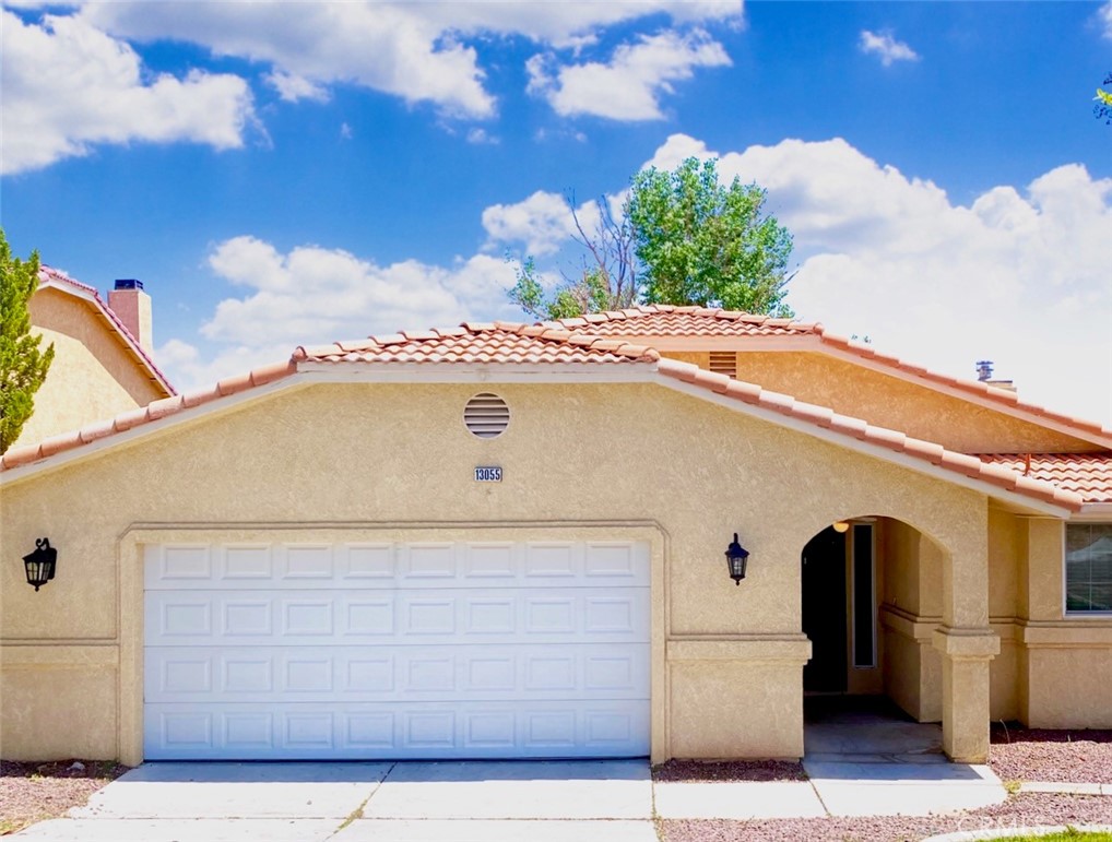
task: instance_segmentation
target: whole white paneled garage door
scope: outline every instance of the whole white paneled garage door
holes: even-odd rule
[[[648,754],[648,547],[147,549],[149,760]]]

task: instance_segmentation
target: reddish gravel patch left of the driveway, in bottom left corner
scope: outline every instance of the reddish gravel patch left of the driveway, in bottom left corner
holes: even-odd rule
[[[0,760],[0,835],[63,815],[127,771],[127,766],[105,761]]]

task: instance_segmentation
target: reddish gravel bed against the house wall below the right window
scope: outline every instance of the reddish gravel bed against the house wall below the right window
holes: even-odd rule
[[[989,765],[1001,781],[1112,783],[1112,731],[1043,731],[995,723]]]

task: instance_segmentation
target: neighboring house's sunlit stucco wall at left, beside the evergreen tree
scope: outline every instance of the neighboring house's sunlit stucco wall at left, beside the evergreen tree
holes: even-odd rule
[[[40,348],[54,346],[54,360],[34,395],[34,415],[14,446],[78,429],[166,397],[92,307],[57,289],[31,298]]]

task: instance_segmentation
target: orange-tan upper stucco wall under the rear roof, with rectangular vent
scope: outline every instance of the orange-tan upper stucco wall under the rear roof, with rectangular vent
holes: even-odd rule
[[[709,355],[666,356],[709,366]],[[971,364],[972,365],[972,364]],[[818,351],[744,351],[737,378],[828,406],[870,424],[898,429],[961,453],[1052,453],[1098,450],[1082,442],[1002,412],[944,395],[898,377],[870,370]],[[1020,384],[1022,394],[1023,384]]]

